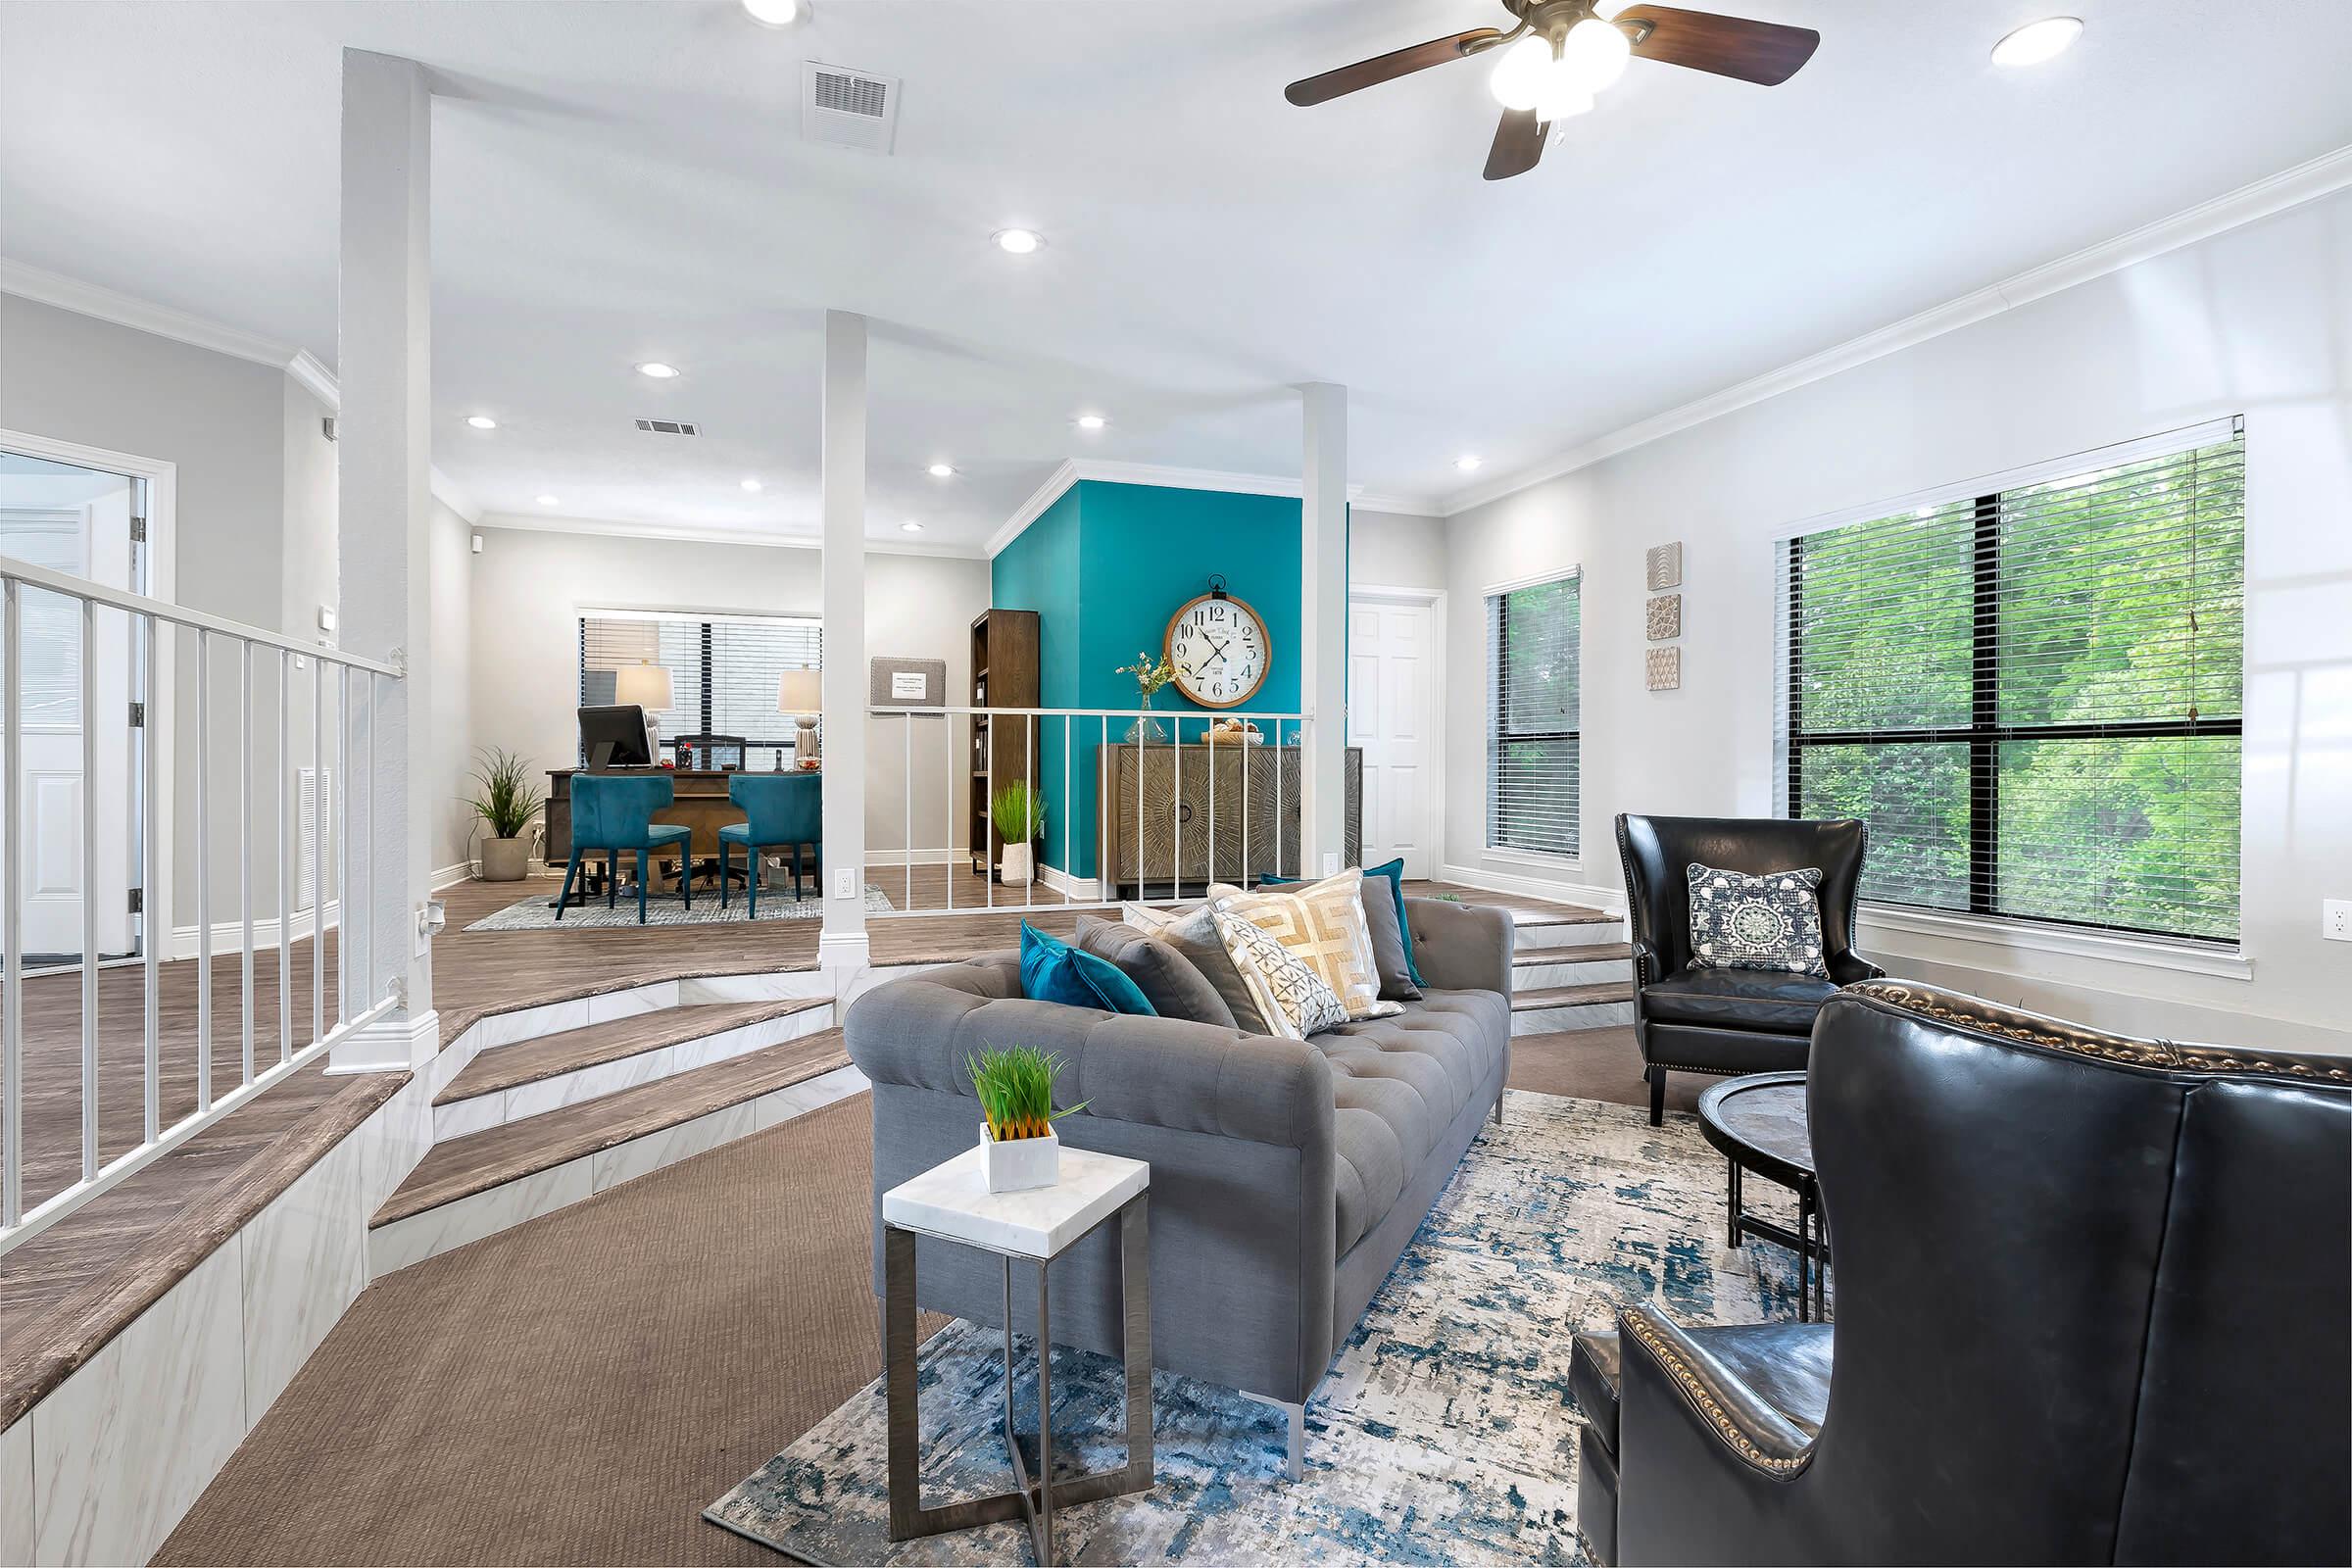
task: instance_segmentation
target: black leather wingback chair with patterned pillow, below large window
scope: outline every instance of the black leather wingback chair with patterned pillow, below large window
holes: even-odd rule
[[[1649,1077],[1649,1124],[1668,1072],[1802,1072],[1813,1013],[1839,985],[1886,971],[1853,952],[1856,884],[1870,830],[1722,816],[1618,816],[1632,922],[1632,1034]],[[1762,969],[1691,969],[1691,865],[1764,875],[1820,867],[1828,980]]]

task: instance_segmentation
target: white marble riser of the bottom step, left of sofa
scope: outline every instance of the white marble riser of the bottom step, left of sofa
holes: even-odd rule
[[[369,1279],[381,1279],[412,1262],[423,1262],[482,1237],[513,1229],[524,1220],[555,1213],[619,1182],[652,1175],[680,1159],[764,1133],[793,1117],[804,1117],[811,1110],[847,1100],[866,1088],[863,1072],[856,1067],[835,1067],[802,1084],[771,1088],[753,1100],[724,1105],[691,1121],[647,1133],[644,1138],[633,1138],[595,1154],[581,1154],[579,1159],[517,1175],[510,1182],[442,1204],[440,1208],[379,1225],[367,1232]]]

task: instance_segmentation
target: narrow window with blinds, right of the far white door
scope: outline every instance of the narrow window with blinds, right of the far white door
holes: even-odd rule
[[[1578,623],[1576,576],[1486,595],[1491,849],[1578,853]]]

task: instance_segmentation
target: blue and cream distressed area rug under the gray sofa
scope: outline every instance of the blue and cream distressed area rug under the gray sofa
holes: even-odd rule
[[[1686,1324],[1797,1316],[1795,1260],[1724,1246],[1724,1159],[1698,1121],[1512,1091],[1308,1401],[1305,1479],[1272,1408],[1152,1375],[1160,1483],[1056,1512],[1065,1563],[1583,1563],[1569,1335],[1646,1300]],[[1750,1204],[1776,1194],[1750,1180]],[[1771,1208],[1769,1201],[1764,1201]],[[1795,1199],[1788,1204],[1795,1225]],[[1014,1342],[1035,1455],[1037,1378]],[[922,1349],[922,1490],[1011,1486],[1002,1335],[950,1324]],[[1056,1469],[1124,1462],[1112,1356],[1054,1352]],[[809,1563],[1025,1563],[1018,1523],[891,1544],[873,1382],[703,1509]]]

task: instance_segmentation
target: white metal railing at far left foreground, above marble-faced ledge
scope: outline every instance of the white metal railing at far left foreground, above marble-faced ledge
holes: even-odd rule
[[[24,599],[28,592],[49,592],[71,599],[80,609],[80,1175],[59,1192],[28,1201],[26,1194],[26,726],[24,726]],[[270,1084],[303,1070],[355,1030],[383,1018],[397,997],[393,976],[374,973],[372,914],[367,893],[372,891],[372,867],[367,853],[353,853],[350,832],[350,748],[353,733],[369,733],[374,724],[376,689],[383,682],[402,679],[400,665],[341,654],[282,637],[259,625],[242,625],[223,616],[151,599],[146,595],[106,588],[87,578],[49,571],[28,562],[0,557],[0,1253],[35,1237],[47,1225],[73,1213],[96,1194],[132,1175],[155,1157],[186,1143],[205,1126],[238,1110]],[[99,614],[120,611],[136,630],[139,698],[146,708],[139,726],[139,813],[136,844],[143,856],[139,886],[141,900],[141,1081],[143,1114],[141,1135],[122,1154],[101,1161],[99,1128],[99,1077],[101,1077],[101,1030],[99,1030],[99,813],[92,809],[99,780]],[[165,886],[160,804],[165,799],[162,745],[158,733],[169,733],[162,719],[174,701],[162,684],[162,642],[193,635],[195,639],[195,1110],[165,1124],[162,1103],[162,1048],[167,1034],[165,976],[172,973],[172,990],[181,990],[183,971],[167,971],[165,945],[172,938],[172,912],[158,896]],[[214,1093],[212,1044],[214,1044],[214,924],[212,924],[212,757],[214,757],[214,651],[235,658],[235,726],[238,745],[238,943],[226,952],[240,952],[240,1056],[238,1086]],[[259,726],[254,722],[254,658],[263,663],[275,656],[275,811],[278,832],[278,1060],[261,1065],[254,1039],[254,842],[256,842],[256,790],[254,745]],[[310,842],[310,1039],[294,1044],[294,886],[289,858],[301,842],[301,823],[289,806],[292,710],[296,708],[296,661],[310,661],[310,773],[313,773],[313,842]],[[334,665],[329,682],[327,665]],[[329,686],[334,686],[336,766],[327,771],[325,736]],[[358,686],[358,696],[355,696]],[[365,724],[362,724],[365,717]],[[132,715],[122,715],[132,724]],[[369,741],[369,748],[374,743]],[[374,757],[369,757],[374,762]],[[332,788],[329,780],[332,778]],[[299,806],[299,792],[296,792]],[[374,790],[362,773],[362,823],[374,823]],[[129,827],[125,823],[125,827]],[[327,844],[336,844],[336,875],[327,884]],[[127,863],[127,856],[125,856]],[[358,891],[350,898],[346,891]],[[343,936],[355,940],[336,943],[336,1018],[327,1018],[327,966],[320,943],[329,926],[329,898],[341,903]],[[353,966],[358,964],[358,976]],[[174,997],[176,1001],[176,997]],[[365,1006],[360,1006],[365,1001]],[[64,1034],[64,1032],[59,1032]],[[40,1041],[64,1048],[64,1039]]]

